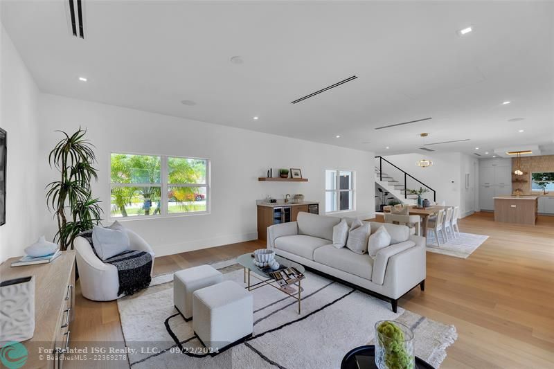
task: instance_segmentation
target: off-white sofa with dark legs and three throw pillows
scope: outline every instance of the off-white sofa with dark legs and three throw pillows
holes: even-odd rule
[[[353,219],[346,219],[348,225]],[[332,245],[333,227],[341,219],[298,213],[296,222],[267,228],[267,248],[305,267],[361,287],[379,298],[398,299],[417,285],[425,289],[425,237],[410,235],[407,226],[370,222],[371,233],[385,226],[391,246],[377,252],[375,260]]]

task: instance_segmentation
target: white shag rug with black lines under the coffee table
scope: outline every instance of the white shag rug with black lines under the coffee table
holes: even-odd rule
[[[226,280],[244,285],[243,269],[234,260],[212,265]],[[204,354],[193,322],[177,313],[172,274],[154,278],[148,289],[118,300],[131,367],[336,369],[349,350],[373,343],[377,321],[389,319],[411,327],[416,356],[438,368],[457,339],[454,325],[401,307],[395,314],[384,300],[314,273],[305,275],[301,315],[296,300],[277,289],[256,289],[253,336],[215,356]]]

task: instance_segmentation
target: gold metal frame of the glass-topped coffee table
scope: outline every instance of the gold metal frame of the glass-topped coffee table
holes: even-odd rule
[[[250,262],[248,262],[247,258],[251,259]],[[297,264],[295,262],[292,262],[291,260],[288,260],[288,259],[285,259],[285,258],[280,258],[278,256],[276,256],[275,258],[279,262],[279,264],[282,264],[287,268],[288,267],[295,267],[301,273],[305,273],[305,269],[304,269],[304,267],[301,266],[301,264]],[[241,255],[237,259],[237,261],[244,268],[244,283],[247,284],[247,289],[249,291],[253,291],[254,289],[258,289],[258,288],[264,287],[264,286],[274,287],[275,289],[278,289],[279,291],[283,292],[283,294],[287,294],[288,296],[294,298],[294,300],[298,301],[298,314],[301,314],[301,302],[302,302],[302,295],[301,295],[302,294],[302,283],[301,283],[301,280],[298,280],[297,282],[294,282],[290,285],[285,286],[285,287],[288,287],[288,286],[298,287],[298,292],[296,294],[289,294],[289,292],[283,290],[283,287],[280,287],[280,285],[278,285],[277,280],[275,280],[274,278],[260,278],[260,276],[258,276],[258,272],[260,274],[266,274],[266,273],[264,273],[263,271],[258,269],[258,267],[256,267],[256,264],[253,263],[253,258],[251,257],[251,253],[245,253],[244,255]],[[255,270],[252,270],[254,268],[255,268]],[[253,278],[256,278],[256,280],[259,280],[260,282],[257,282],[255,284],[251,285],[251,281],[250,281],[251,276]]]

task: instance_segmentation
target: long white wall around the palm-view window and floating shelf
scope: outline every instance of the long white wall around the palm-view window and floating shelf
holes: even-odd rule
[[[348,216],[373,217],[373,153],[262,134],[195,120],[42,94],[39,102],[41,143],[39,186],[55,172],[47,154],[60,134],[86,127],[96,145],[99,180],[94,195],[109,214],[109,154],[129,152],[211,159],[211,214],[134,219],[125,226],[140,233],[157,255],[256,239],[256,199],[303,193],[320,201],[324,211],[325,169],[355,170],[357,211]],[[259,182],[268,168],[301,168],[307,183]],[[41,201],[39,204],[44,204]],[[43,205],[44,208],[44,205]],[[40,233],[52,237],[55,222],[42,212]],[[109,222],[105,222],[109,224]]]

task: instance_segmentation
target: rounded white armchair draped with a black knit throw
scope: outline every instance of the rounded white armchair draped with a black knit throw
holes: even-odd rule
[[[129,236],[131,250],[145,251],[152,255],[152,269],[154,270],[154,251],[141,236],[129,229],[125,229]],[[77,251],[77,267],[81,282],[82,296],[94,301],[116,300],[119,290],[119,276],[117,268],[112,264],[102,262],[92,250],[91,244],[83,237],[75,238],[73,242]]]

